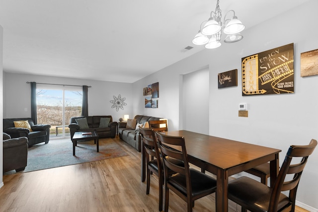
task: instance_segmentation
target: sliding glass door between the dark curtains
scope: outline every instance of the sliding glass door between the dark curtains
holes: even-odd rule
[[[70,118],[81,115],[81,106],[81,87],[37,84],[37,122],[51,125],[50,139],[70,136]]]

